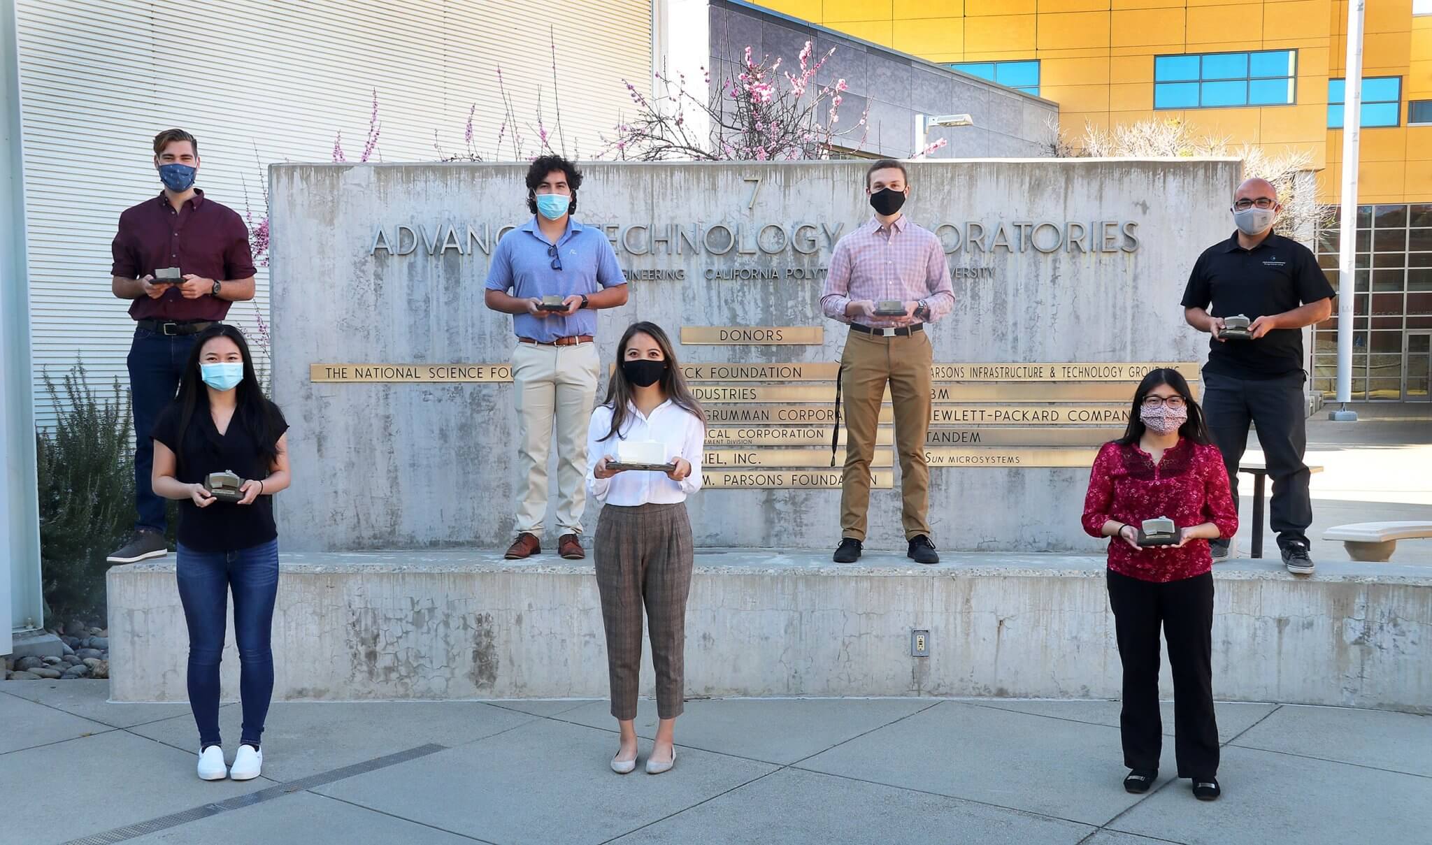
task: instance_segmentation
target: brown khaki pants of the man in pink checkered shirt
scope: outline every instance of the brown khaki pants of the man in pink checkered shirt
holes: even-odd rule
[[[845,475],[841,484],[841,536],[865,540],[865,511],[871,504],[871,458],[885,384],[895,410],[895,451],[899,455],[905,539],[929,536],[929,365],[934,348],[919,331],[879,337],[851,331],[841,355],[841,405],[845,414]]]

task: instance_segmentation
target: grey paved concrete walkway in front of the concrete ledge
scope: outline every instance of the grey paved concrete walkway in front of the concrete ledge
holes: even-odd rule
[[[1383,710],[1219,705],[1224,796],[1201,803],[1170,779],[1171,739],[1154,791],[1123,791],[1113,702],[699,700],[676,769],[654,778],[607,769],[606,702],[281,703],[265,776],[205,783],[188,706],[105,696],[103,680],[0,682],[0,842],[1346,845],[1432,831],[1432,716]],[[221,713],[232,742],[238,708]],[[637,725],[644,759],[650,702]]]

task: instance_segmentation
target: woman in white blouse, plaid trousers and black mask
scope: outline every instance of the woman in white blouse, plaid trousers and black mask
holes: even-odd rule
[[[597,518],[594,559],[607,629],[611,715],[621,729],[611,771],[624,775],[636,769],[633,722],[644,604],[660,719],[646,771],[659,775],[676,765],[673,743],[686,689],[686,596],[693,563],[684,503],[702,487],[706,422],[660,327],[633,324],[617,344],[617,362],[606,402],[591,412],[587,431],[587,493],[604,506]],[[620,463],[669,468],[624,470],[619,457],[624,458]]]

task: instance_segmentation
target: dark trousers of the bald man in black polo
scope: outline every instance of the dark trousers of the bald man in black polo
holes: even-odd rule
[[[1249,422],[1257,427],[1257,441],[1273,480],[1269,524],[1282,546],[1289,540],[1307,543],[1313,524],[1313,501],[1307,493],[1310,473],[1303,463],[1307,447],[1307,414],[1303,404],[1303,372],[1282,378],[1243,380],[1203,375],[1203,410],[1209,433],[1223,453],[1229,470],[1233,504],[1239,503],[1239,461],[1249,441]]]

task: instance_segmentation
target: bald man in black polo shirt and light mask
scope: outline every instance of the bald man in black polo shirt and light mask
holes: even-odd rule
[[[1233,501],[1239,497],[1239,460],[1247,445],[1249,421],[1273,478],[1269,521],[1277,531],[1287,571],[1307,574],[1307,526],[1313,506],[1303,464],[1307,414],[1303,404],[1303,327],[1332,314],[1336,294],[1313,254],[1273,233],[1283,206],[1264,179],[1249,179],[1233,196],[1237,231],[1203,251],[1183,294],[1184,319],[1213,334],[1203,368],[1203,408],[1223,464]],[[1211,304],[1211,308],[1210,308]],[[1220,338],[1227,317],[1252,321],[1252,338]],[[1227,557],[1230,539],[1213,540],[1213,557]]]

